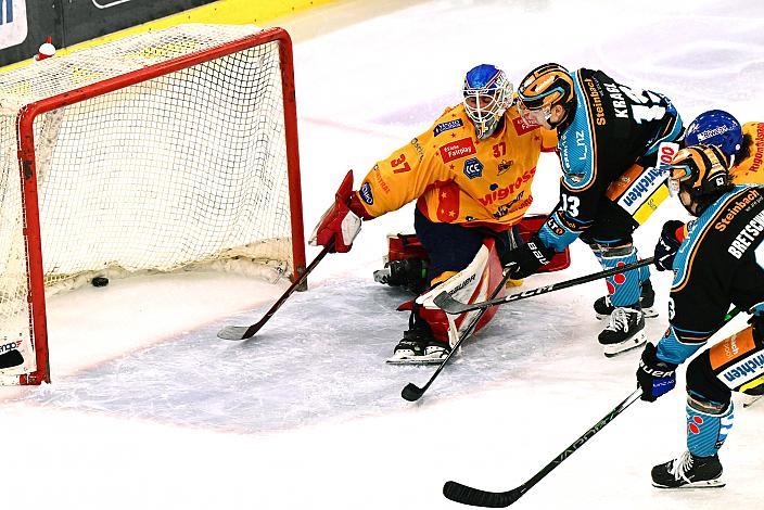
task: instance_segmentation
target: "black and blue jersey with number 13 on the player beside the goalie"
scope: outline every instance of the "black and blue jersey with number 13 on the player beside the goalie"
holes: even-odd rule
[[[613,181],[641,160],[654,164],[659,144],[683,131],[676,109],[658,92],[617,84],[601,71],[582,68],[571,77],[576,109],[558,128],[560,201],[539,231],[558,252],[595,222]]]

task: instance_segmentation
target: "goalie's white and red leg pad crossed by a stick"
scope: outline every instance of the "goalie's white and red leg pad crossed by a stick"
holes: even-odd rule
[[[417,297],[417,303],[428,309],[440,309],[433,299],[441,292],[448,292],[454,298],[463,303],[475,303],[488,298],[488,256],[491,252],[483,244],[469,266],[429,292]],[[480,310],[472,310],[458,316],[446,314],[448,320],[448,342],[454,347],[459,335],[467,330]]]

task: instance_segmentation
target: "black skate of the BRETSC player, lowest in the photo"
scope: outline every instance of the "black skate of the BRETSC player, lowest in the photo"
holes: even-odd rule
[[[678,459],[652,468],[652,485],[658,488],[724,487],[718,455],[696,457],[685,451]]]

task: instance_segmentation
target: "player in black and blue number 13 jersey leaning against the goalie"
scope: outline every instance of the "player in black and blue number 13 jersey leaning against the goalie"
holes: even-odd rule
[[[507,258],[512,278],[536,272],[578,237],[606,269],[637,260],[632,233],[668,195],[657,161],[679,149],[683,125],[671,101],[601,71],[545,64],[523,78],[518,105],[529,122],[557,129],[562,179],[546,225]],[[649,277],[644,267],[608,279],[609,295],[595,303],[598,318],[610,316],[599,335],[606,356],[646,341],[645,316],[657,315]]]

